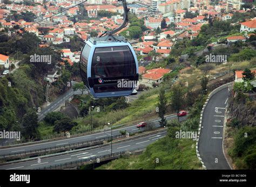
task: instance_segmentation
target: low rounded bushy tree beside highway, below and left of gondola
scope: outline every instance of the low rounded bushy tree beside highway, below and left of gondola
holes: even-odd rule
[[[54,132],[64,132],[64,134],[66,134],[66,131],[70,131],[74,126],[78,124],[75,121],[72,121],[68,116],[66,116],[60,120],[55,121],[54,125]]]

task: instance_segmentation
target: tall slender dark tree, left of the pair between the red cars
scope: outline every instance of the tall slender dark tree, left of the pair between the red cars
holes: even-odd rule
[[[161,127],[165,127],[167,124],[166,118],[164,117],[166,113],[166,105],[167,105],[167,98],[165,97],[165,89],[162,87],[159,91],[158,96],[158,116],[161,118],[159,124]]]

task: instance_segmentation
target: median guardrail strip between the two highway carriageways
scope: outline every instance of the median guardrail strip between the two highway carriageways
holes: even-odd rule
[[[112,140],[118,139],[118,138],[123,138],[125,135],[113,135]],[[105,138],[100,138],[100,139],[94,139],[94,140],[87,140],[87,141],[82,141],[82,142],[76,142],[76,143],[70,143],[68,145],[59,145],[59,146],[52,146],[52,147],[47,147],[47,148],[40,148],[40,149],[33,149],[33,150],[24,150],[21,152],[16,152],[16,153],[9,153],[9,154],[0,154],[0,159],[14,159],[15,157],[26,157],[26,156],[31,156],[31,155],[43,155],[45,153],[57,153],[62,150],[69,150],[69,149],[77,149],[81,147],[91,147],[94,145],[100,145],[103,141],[110,141],[111,136],[107,136]]]

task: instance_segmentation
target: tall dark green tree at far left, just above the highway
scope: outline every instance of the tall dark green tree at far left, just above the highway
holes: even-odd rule
[[[33,109],[29,109],[28,112],[22,118],[22,126],[23,126],[23,137],[24,138],[36,138],[38,137],[38,119],[37,113]]]

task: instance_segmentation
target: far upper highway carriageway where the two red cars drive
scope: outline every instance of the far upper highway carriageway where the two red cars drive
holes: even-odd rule
[[[159,119],[153,119],[152,123],[156,126],[156,127],[160,127],[159,126]],[[177,119],[177,116],[175,114],[171,114],[169,116],[166,116],[166,120],[173,120],[173,119]],[[184,117],[180,117],[180,121],[186,120],[186,116]],[[122,127],[122,128],[117,128],[117,129],[113,129],[112,130],[112,135],[120,135],[120,130],[126,130],[126,132],[129,133],[136,133],[139,131],[139,129],[137,128],[137,126],[134,124],[132,126],[127,126],[127,127]],[[140,131],[144,131],[145,127],[141,128]],[[111,130],[110,128],[107,128],[103,131],[100,131],[98,133],[93,133],[93,134],[87,134],[84,136],[77,136],[74,138],[66,138],[66,139],[62,139],[62,140],[55,140],[55,141],[49,141],[49,142],[41,142],[41,143],[36,143],[36,144],[32,144],[32,145],[23,145],[23,146],[18,146],[18,147],[10,147],[10,148],[4,148],[4,149],[0,149],[0,156],[4,155],[4,154],[12,154],[12,153],[16,153],[18,154],[19,152],[28,152],[30,150],[35,150],[35,149],[44,149],[44,148],[49,148],[49,147],[55,147],[55,146],[66,146],[68,144],[72,144],[72,143],[77,143],[77,142],[82,142],[82,141],[89,141],[89,140],[95,140],[95,139],[103,139],[103,138],[107,138],[107,137],[111,137]]]

